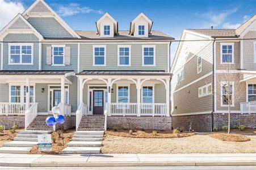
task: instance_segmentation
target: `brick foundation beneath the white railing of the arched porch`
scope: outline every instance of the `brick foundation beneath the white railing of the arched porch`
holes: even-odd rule
[[[110,116],[107,117],[107,128],[113,129],[156,129],[170,130],[171,117],[148,117],[148,116]]]

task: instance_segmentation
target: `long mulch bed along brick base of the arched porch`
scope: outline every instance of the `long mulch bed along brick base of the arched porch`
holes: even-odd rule
[[[172,130],[157,131],[156,135],[153,135],[153,130],[133,130],[130,135],[129,130],[107,130],[105,135],[114,135],[118,137],[129,137],[129,138],[182,138],[191,137],[194,133],[173,133]]]

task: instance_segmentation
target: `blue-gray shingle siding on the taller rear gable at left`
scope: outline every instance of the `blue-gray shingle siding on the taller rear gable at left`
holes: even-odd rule
[[[28,18],[28,22],[47,38],[71,38],[68,31],[55,18]]]

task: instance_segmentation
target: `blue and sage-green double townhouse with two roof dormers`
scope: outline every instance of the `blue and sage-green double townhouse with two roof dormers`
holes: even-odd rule
[[[174,38],[152,25],[141,13],[129,31],[119,31],[106,13],[96,31],[73,31],[47,3],[35,1],[0,32],[0,124],[44,130],[47,114],[59,106],[66,126],[77,113],[77,129],[80,122],[80,129],[93,129],[103,113],[108,128],[170,129]]]

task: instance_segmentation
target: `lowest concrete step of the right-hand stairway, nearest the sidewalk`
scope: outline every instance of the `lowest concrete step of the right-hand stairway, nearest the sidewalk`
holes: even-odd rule
[[[99,154],[100,147],[66,147],[62,154]]]

